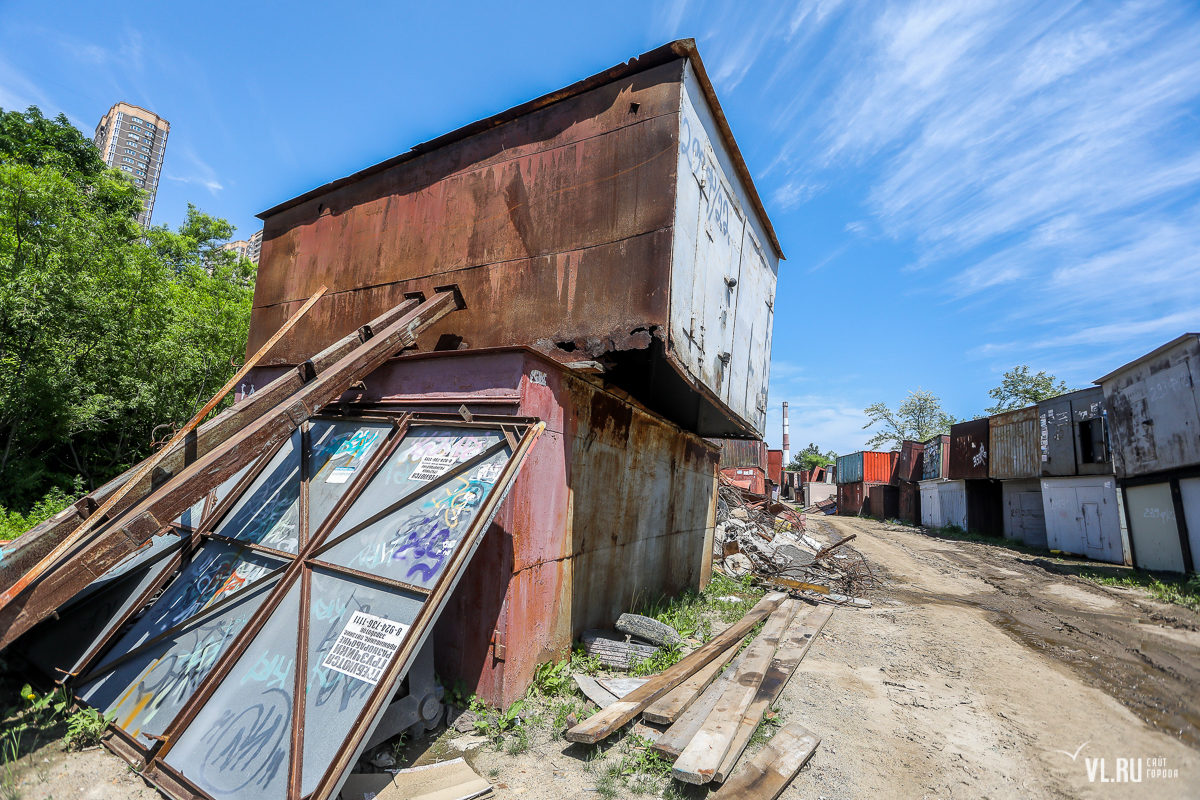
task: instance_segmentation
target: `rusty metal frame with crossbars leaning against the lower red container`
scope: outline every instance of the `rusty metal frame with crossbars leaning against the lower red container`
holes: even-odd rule
[[[335,750],[335,757],[329,764],[325,765],[324,771],[320,774],[316,789],[308,795],[305,795],[311,799],[324,799],[331,796],[341,786],[346,775],[349,774],[349,769],[353,766],[354,759],[358,757],[358,751],[362,748],[362,745],[366,741],[367,733],[378,722],[380,715],[386,708],[386,703],[390,702],[392,694],[395,694],[397,687],[400,686],[400,681],[403,678],[409,662],[420,651],[420,646],[424,644],[426,636],[431,631],[433,621],[436,621],[436,619],[440,615],[442,608],[445,606],[450,593],[457,584],[463,567],[474,553],[475,548],[479,546],[482,534],[486,533],[487,528],[491,525],[500,504],[508,494],[508,491],[511,488],[524,457],[528,455],[529,449],[540,435],[541,431],[545,428],[542,423],[529,417],[476,415],[472,421],[464,421],[461,416],[448,414],[370,411],[366,409],[360,413],[338,413],[341,410],[341,407],[331,405],[325,409],[325,413],[311,417],[300,428],[299,521],[301,533],[296,553],[284,553],[274,548],[263,547],[254,542],[229,539],[212,533],[214,529],[224,521],[236,501],[250,489],[263,470],[270,465],[275,455],[283,447],[284,443],[288,441],[288,438],[284,438],[277,443],[270,452],[262,456],[257,462],[253,462],[251,469],[246,470],[246,474],[242,475],[236,487],[232,488],[229,493],[222,498],[220,504],[214,504],[212,493],[208,495],[204,517],[196,530],[186,531],[180,530],[179,525],[172,525],[182,535],[182,554],[180,559],[173,561],[173,564],[178,565],[178,569],[168,570],[168,575],[162,578],[161,582],[156,582],[156,589],[164,588],[167,585],[166,578],[178,575],[179,570],[186,566],[188,558],[199,552],[199,548],[204,542],[235,543],[238,546],[244,546],[259,552],[269,558],[282,560],[283,564],[278,569],[264,573],[253,583],[247,583],[246,585],[240,587],[236,591],[230,593],[228,596],[218,600],[212,606],[197,612],[188,619],[182,620],[181,622],[154,637],[150,637],[145,642],[142,642],[130,651],[122,654],[119,658],[113,660],[103,667],[92,668],[90,672],[88,672],[84,666],[80,666],[78,669],[78,672],[84,674],[77,678],[74,685],[82,686],[95,678],[112,672],[120,663],[140,652],[144,652],[157,642],[161,642],[179,630],[186,627],[197,618],[210,615],[220,607],[233,603],[238,599],[244,597],[246,593],[260,590],[263,587],[268,585],[268,582],[274,582],[274,585],[270,585],[266,589],[266,599],[251,614],[245,626],[238,631],[228,648],[221,652],[211,669],[209,669],[205,676],[196,686],[196,690],[191,693],[186,702],[184,702],[175,716],[170,720],[162,735],[143,734],[145,738],[155,740],[152,745],[149,747],[144,746],[140,741],[138,741],[136,734],[126,732],[115,723],[108,726],[108,732],[104,736],[106,746],[126,760],[137,765],[143,776],[172,796],[212,798],[212,795],[204,792],[182,772],[167,764],[166,757],[170,753],[173,745],[188,729],[188,726],[196,720],[197,715],[216,693],[222,681],[228,678],[229,673],[238,666],[240,658],[246,654],[247,649],[257,640],[268,621],[271,620],[275,612],[284,602],[288,594],[298,587],[300,591],[300,610],[298,619],[295,620],[296,650],[293,676],[292,727],[288,734],[290,736],[290,741],[286,796],[301,796],[300,790],[304,777],[304,722],[306,703],[298,698],[304,698],[306,696],[306,680],[308,673],[307,658],[310,634],[312,632],[310,619],[312,572],[314,569],[319,569],[323,572],[341,579],[366,582],[372,584],[376,589],[383,591],[390,591],[394,594],[404,593],[406,595],[415,595],[420,599],[420,608],[416,610],[409,630],[406,631],[404,638],[400,644],[400,649],[390,658],[383,675],[368,692],[362,708],[354,717],[349,732],[346,738],[340,741],[337,748]],[[307,513],[310,491],[308,483],[312,480],[312,475],[310,474],[311,470],[308,468],[308,450],[311,445],[308,441],[308,432],[312,423],[318,421],[376,423],[386,421],[391,423],[391,429],[386,433],[384,440],[379,444],[374,452],[372,452],[361,464],[362,469],[360,469],[358,474],[350,479],[347,489],[337,499],[325,518],[323,521],[317,521],[316,528],[310,531],[311,521],[308,519]],[[362,497],[364,491],[400,449],[402,443],[408,438],[409,433],[420,427],[462,429],[482,428],[498,432],[502,434],[502,438],[493,445],[485,447],[475,456],[472,456],[470,458],[450,468],[446,473],[439,475],[438,477],[425,482],[419,487],[412,488],[403,497],[389,503],[379,511],[354,524],[346,531],[342,531],[336,537],[332,536],[332,531],[336,530],[338,523]],[[508,457],[496,482],[492,485],[491,491],[488,491],[486,495],[480,499],[479,510],[468,523],[462,539],[455,545],[452,552],[446,558],[444,569],[442,569],[436,581],[428,589],[373,575],[371,572],[346,567],[322,559],[323,554],[331,551],[340,542],[361,533],[379,519],[386,518],[389,515],[406,507],[414,500],[418,500],[421,497],[437,491],[439,487],[448,485],[450,481],[464,475],[479,464],[492,458],[497,453],[504,452],[505,450],[508,450]],[[216,507],[214,507],[214,505],[216,505]],[[180,553],[180,548],[172,549],[170,552]],[[154,593],[146,593],[146,595],[154,596]],[[104,636],[101,637],[101,640],[96,642],[89,649],[89,655],[82,660],[80,664],[95,664],[96,661],[112,645],[120,640],[119,633],[124,632],[125,622],[142,607],[144,607],[144,604],[134,604],[133,612],[126,615],[125,620],[122,620],[120,625],[108,627]],[[82,700],[80,703],[85,704]]]

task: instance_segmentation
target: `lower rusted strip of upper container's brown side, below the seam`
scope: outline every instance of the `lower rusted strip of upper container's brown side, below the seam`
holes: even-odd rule
[[[598,356],[646,348],[649,327],[667,318],[667,283],[655,265],[666,269],[670,259],[670,233],[659,230],[578,252],[326,295],[264,361],[299,363],[323,347],[325,337],[353,331],[406,294],[432,296],[448,278],[467,297],[467,313],[432,326],[418,339],[421,351],[526,344],[578,361],[590,357],[589,351]],[[300,302],[256,308],[247,347],[265,342]],[[559,342],[571,343],[574,351],[556,350]]]

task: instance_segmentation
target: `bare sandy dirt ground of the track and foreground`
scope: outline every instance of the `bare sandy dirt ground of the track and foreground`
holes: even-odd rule
[[[785,690],[782,718],[822,742],[784,798],[1200,796],[1196,614],[990,545],[832,517],[810,533],[857,533],[888,585],[872,608],[833,615]],[[413,742],[402,765],[463,754],[498,798],[558,800],[600,796],[602,764],[629,754],[618,744],[589,765],[590,748],[545,729],[516,756],[462,753],[456,738]],[[1114,782],[1117,759],[1134,776],[1141,759],[1142,781]],[[154,794],[115,756],[55,744],[24,758],[19,780],[23,798]]]

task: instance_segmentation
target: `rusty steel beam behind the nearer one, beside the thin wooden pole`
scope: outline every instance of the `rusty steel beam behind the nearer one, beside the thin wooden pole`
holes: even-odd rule
[[[383,314],[362,325],[358,330],[326,347],[296,369],[290,369],[246,399],[226,409],[216,417],[202,425],[194,434],[172,450],[152,470],[150,475],[140,476],[134,486],[126,492],[109,512],[110,518],[120,517],[132,505],[150,494],[155,485],[169,479],[188,464],[202,458],[254,420],[263,416],[286,398],[295,395],[313,377],[322,374],[337,363],[348,353],[370,339],[376,331],[382,331],[401,317],[416,308],[425,297],[412,295]],[[85,521],[91,518],[97,509],[108,503],[131,477],[138,474],[142,464],[130,468],[95,492],[80,498],[66,510],[50,519],[35,525],[19,539],[0,551],[0,590],[12,587],[22,576],[54,551],[60,542],[74,533]],[[97,521],[102,523],[104,521]],[[4,618],[0,616],[0,625]]]

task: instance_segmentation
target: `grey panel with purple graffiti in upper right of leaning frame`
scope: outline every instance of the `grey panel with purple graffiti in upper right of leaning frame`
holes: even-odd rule
[[[466,474],[431,489],[331,547],[319,557],[320,560],[432,588],[508,459],[509,450],[504,447]],[[410,473],[419,469],[419,464],[409,464]],[[377,475],[376,481],[380,477],[384,476]],[[358,519],[364,519],[398,497],[400,493],[365,492],[352,512]],[[332,536],[350,528],[349,517],[350,513],[347,513]]]

